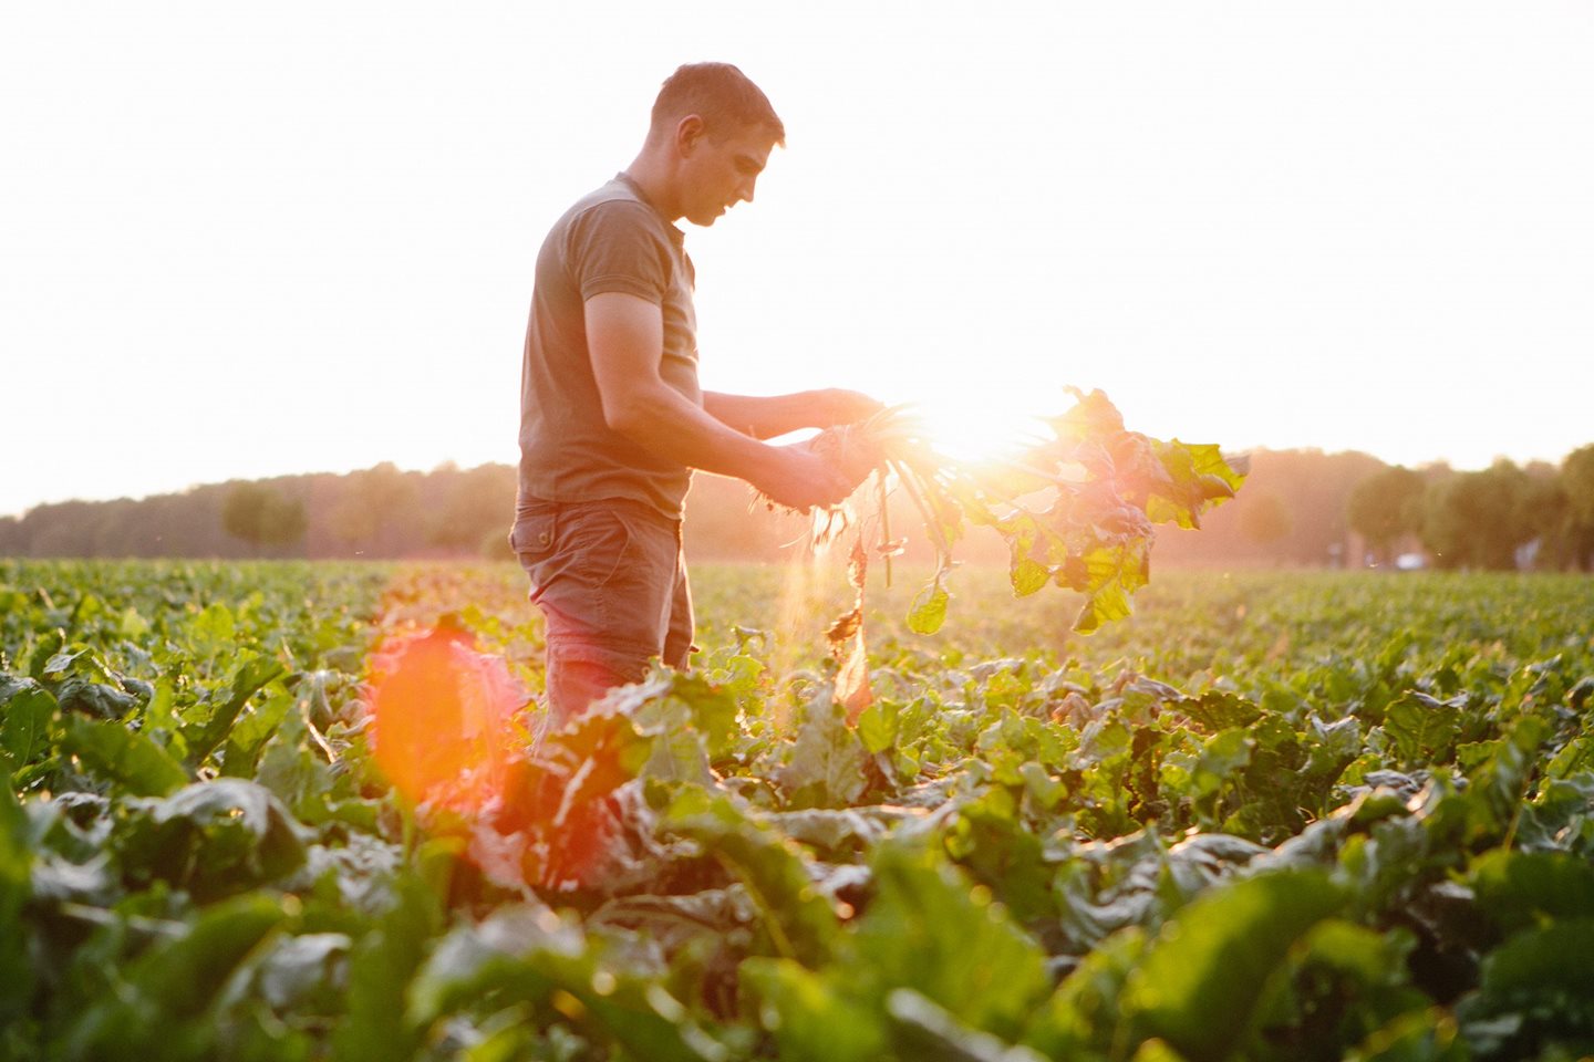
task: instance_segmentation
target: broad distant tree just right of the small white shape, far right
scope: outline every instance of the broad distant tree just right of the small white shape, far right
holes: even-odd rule
[[[1516,549],[1532,538],[1521,522],[1529,478],[1508,460],[1430,482],[1423,495],[1422,541],[1441,568],[1516,567]]]

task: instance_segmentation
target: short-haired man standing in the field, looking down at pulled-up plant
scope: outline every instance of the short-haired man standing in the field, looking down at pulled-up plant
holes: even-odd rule
[[[685,667],[692,595],[681,506],[693,468],[797,510],[851,482],[802,446],[762,439],[878,409],[818,390],[773,398],[698,387],[692,260],[674,226],[752,202],[784,126],[736,67],[674,72],[636,161],[555,223],[537,255],[521,374],[520,498],[510,541],[547,618],[561,723],[652,658]]]

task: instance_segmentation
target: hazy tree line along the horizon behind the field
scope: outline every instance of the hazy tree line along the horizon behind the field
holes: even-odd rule
[[[1561,465],[1497,462],[1482,471],[1403,468],[1358,452],[1256,451],[1239,497],[1197,532],[1164,529],[1159,565],[1361,567],[1420,554],[1446,568],[1594,570],[1594,444]],[[0,517],[0,554],[32,557],[494,557],[508,559],[515,468],[279,476],[140,500],[40,505]],[[866,516],[872,500],[864,505]],[[687,551],[700,560],[778,560],[802,517],[757,505],[733,479],[698,474],[687,497]],[[909,559],[932,552],[907,498],[891,508]],[[1006,548],[977,530],[968,562]]]

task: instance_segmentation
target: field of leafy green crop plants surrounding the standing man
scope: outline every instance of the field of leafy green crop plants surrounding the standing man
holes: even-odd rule
[[[848,726],[845,576],[701,568],[544,732],[512,565],[0,560],[0,1057],[1594,1052],[1594,581],[1006,581]]]

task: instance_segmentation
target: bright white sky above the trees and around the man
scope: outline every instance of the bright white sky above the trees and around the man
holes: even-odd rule
[[[1559,462],[1591,54],[1581,0],[6,5],[0,514],[515,462],[542,236],[703,59],[787,127],[682,223],[711,390]]]

